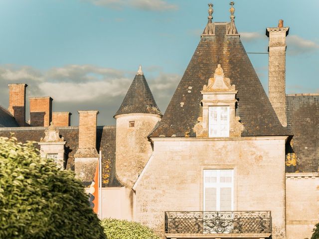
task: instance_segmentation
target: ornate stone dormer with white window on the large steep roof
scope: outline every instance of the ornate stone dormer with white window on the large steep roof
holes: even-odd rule
[[[221,65],[218,64],[213,78],[208,79],[200,92],[203,96],[202,117],[194,126],[196,137],[236,137],[241,136],[244,126],[236,117],[235,85],[225,77]],[[221,129],[222,132],[218,132]]]

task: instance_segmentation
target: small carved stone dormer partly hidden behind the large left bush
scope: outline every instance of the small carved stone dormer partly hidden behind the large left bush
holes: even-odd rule
[[[65,168],[65,152],[64,145],[66,141],[64,138],[60,138],[59,130],[50,123],[50,126],[44,131],[44,138],[41,137],[40,142],[40,154],[43,158],[52,158],[57,165],[61,168]]]

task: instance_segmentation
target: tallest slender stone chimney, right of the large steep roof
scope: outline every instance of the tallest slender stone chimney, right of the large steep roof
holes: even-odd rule
[[[284,27],[284,20],[279,20],[278,27],[267,27],[269,37],[269,78],[268,96],[278,119],[287,126],[286,116],[286,36],[289,27]]]

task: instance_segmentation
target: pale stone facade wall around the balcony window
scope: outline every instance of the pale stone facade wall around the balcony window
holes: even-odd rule
[[[285,139],[154,138],[135,220],[163,236],[165,211],[203,210],[203,169],[234,169],[234,211],[271,211],[273,239],[285,239]]]

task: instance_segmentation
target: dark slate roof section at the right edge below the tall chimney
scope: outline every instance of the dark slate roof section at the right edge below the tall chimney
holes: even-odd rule
[[[294,133],[292,151],[296,167],[288,172],[318,172],[319,167],[319,94],[287,95],[287,124]]]

